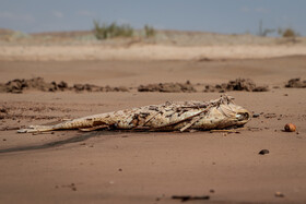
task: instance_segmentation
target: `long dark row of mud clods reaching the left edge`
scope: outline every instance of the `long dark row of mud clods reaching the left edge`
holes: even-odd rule
[[[75,91],[75,92],[128,92],[125,86],[110,87],[110,86],[96,86],[92,84],[74,84],[73,86],[68,86],[67,82],[51,82],[47,83],[43,77],[33,77],[30,80],[12,80],[5,84],[0,84],[0,93],[14,93],[21,94],[26,89],[36,89],[43,92],[57,92],[57,91]]]

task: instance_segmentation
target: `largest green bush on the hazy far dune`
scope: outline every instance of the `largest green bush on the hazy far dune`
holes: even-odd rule
[[[133,35],[133,28],[129,24],[117,25],[116,22],[111,24],[101,24],[94,21],[94,33],[97,39],[131,37]]]

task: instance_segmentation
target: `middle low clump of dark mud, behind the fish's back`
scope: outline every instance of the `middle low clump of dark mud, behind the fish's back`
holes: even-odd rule
[[[166,92],[166,93],[193,93],[197,92],[193,85],[187,81],[186,83],[160,83],[140,85],[138,92]]]

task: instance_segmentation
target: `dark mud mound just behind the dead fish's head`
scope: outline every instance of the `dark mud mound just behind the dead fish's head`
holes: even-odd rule
[[[246,92],[268,92],[268,86],[257,86],[250,79],[236,79],[228,83],[217,84],[215,86],[207,85],[203,92],[231,92],[231,91],[246,91]]]

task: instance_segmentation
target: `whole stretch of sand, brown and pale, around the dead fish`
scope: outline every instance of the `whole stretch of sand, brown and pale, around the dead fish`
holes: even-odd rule
[[[173,195],[210,196],[190,203],[306,202],[306,92],[284,87],[292,77],[306,79],[306,57],[269,58],[305,55],[305,48],[258,52],[256,47],[227,51],[181,47],[172,52],[170,47],[137,46],[95,53],[101,48],[93,47],[89,48],[93,57],[86,60],[84,50],[51,49],[31,47],[21,55],[20,47],[1,48],[0,82],[42,76],[48,82],[101,86],[187,80],[201,86],[249,77],[270,91],[227,93],[238,105],[260,113],[246,130],[231,134],[57,131],[32,135],[10,130],[165,100],[209,100],[219,93],[2,93],[0,128],[9,130],[0,131],[1,203],[180,203]],[[140,55],[130,57],[136,49]],[[118,52],[123,56],[120,60],[114,57]],[[223,60],[199,61],[202,57]],[[254,57],[261,59],[245,59]],[[283,132],[287,122],[297,132]],[[270,154],[259,155],[263,148]],[[275,196],[276,192],[284,196]]]

